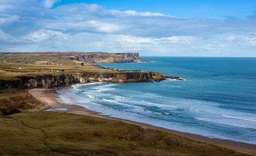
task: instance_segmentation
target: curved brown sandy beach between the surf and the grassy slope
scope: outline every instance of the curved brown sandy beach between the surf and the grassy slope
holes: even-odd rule
[[[66,86],[66,87],[69,87],[69,86]],[[66,88],[66,87],[64,87],[64,88]],[[57,108],[68,109],[68,111],[59,111],[59,112],[68,112],[68,113],[74,113],[74,114],[79,114],[79,115],[89,115],[89,116],[94,116],[94,117],[99,117],[99,118],[119,120],[119,121],[123,121],[126,123],[137,124],[143,128],[157,129],[159,131],[171,133],[171,134],[186,137],[189,139],[198,140],[198,141],[226,147],[229,149],[237,150],[240,152],[256,155],[256,145],[254,145],[254,144],[248,144],[248,143],[224,140],[224,139],[217,139],[217,138],[208,138],[208,137],[204,137],[201,135],[179,132],[179,131],[175,131],[175,130],[171,130],[171,129],[167,129],[167,128],[163,128],[163,127],[153,126],[151,124],[146,124],[146,123],[126,120],[126,119],[121,119],[121,118],[110,117],[107,115],[102,115],[100,112],[95,112],[95,111],[86,109],[84,107],[78,106],[78,105],[66,105],[66,104],[60,103],[56,100],[56,98],[58,98],[58,96],[56,95],[56,90],[62,89],[62,88],[63,87],[59,87],[56,89],[37,89],[36,88],[36,89],[29,90],[28,92],[32,96],[34,96],[35,98],[37,98],[45,103],[45,105],[42,106],[40,109],[32,110],[32,112],[46,111],[49,109],[57,109]]]

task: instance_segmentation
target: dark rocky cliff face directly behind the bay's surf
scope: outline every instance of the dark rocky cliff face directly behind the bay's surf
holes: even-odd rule
[[[108,78],[110,80],[104,80]],[[17,76],[15,80],[0,80],[0,89],[6,88],[38,88],[38,87],[58,87],[75,83],[93,81],[106,82],[147,82],[162,80],[162,75],[159,72],[123,72],[123,73],[99,73],[87,72],[81,74],[59,74],[59,75],[37,75],[32,76]],[[98,80],[98,78],[101,78]]]

